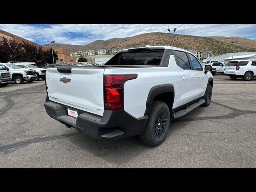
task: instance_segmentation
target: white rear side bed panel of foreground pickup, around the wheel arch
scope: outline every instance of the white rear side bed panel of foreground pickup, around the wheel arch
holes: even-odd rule
[[[173,107],[178,106],[180,75],[173,55],[170,56],[168,66],[106,68],[104,75],[108,74],[138,74],[136,79],[128,80],[124,84],[124,110],[135,118],[144,116],[148,94],[154,86],[172,85],[175,89]]]

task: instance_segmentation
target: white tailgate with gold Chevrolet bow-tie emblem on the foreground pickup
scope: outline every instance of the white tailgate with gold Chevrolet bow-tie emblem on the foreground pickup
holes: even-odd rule
[[[71,73],[48,68],[46,85],[51,101],[102,116],[104,68],[71,68]]]

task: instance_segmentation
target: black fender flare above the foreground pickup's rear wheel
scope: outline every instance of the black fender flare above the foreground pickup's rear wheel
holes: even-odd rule
[[[174,100],[174,96],[175,96],[174,93],[175,92],[174,92],[174,86],[172,84],[157,85],[157,86],[154,86],[150,89],[150,91],[148,93],[148,98],[147,98],[147,101],[146,101],[146,110],[145,110],[144,116],[148,116],[149,110],[150,110],[150,107],[152,105],[152,102],[153,102],[154,98],[159,94],[167,93],[167,92],[172,93],[173,100]],[[172,104],[173,104],[173,102],[172,102]]]

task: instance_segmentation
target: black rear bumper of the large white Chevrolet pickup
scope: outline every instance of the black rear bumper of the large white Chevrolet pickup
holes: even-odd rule
[[[104,110],[101,117],[74,108],[78,111],[78,117],[72,118],[67,115],[68,106],[52,102],[48,96],[44,107],[51,118],[102,141],[142,134],[147,119],[147,117],[134,118],[124,109]]]

